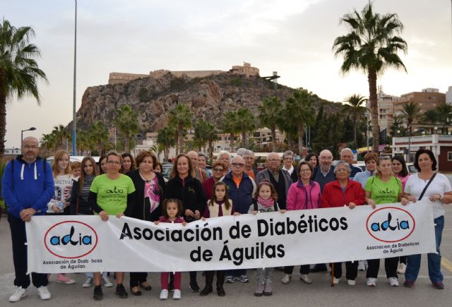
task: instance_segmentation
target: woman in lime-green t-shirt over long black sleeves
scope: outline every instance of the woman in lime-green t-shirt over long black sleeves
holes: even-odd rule
[[[107,173],[95,177],[91,183],[88,203],[90,207],[100,216],[102,221],[107,222],[109,215],[122,217],[129,216],[133,209],[135,200],[135,186],[129,176],[119,173],[121,169],[121,155],[114,150],[107,153]],[[125,299],[127,294],[122,282],[124,272],[116,272],[116,294]],[[94,299],[100,300],[102,294],[102,275],[94,273]]]

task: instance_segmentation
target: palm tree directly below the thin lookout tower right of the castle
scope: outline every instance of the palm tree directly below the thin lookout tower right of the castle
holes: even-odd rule
[[[271,150],[273,152],[276,151],[276,127],[282,110],[283,104],[278,97],[264,98],[262,105],[258,106],[258,119],[261,121],[261,126],[266,126],[271,131]]]

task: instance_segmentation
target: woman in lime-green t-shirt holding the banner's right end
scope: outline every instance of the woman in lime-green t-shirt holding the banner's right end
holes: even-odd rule
[[[376,176],[367,179],[365,200],[368,205],[375,209],[376,205],[385,203],[398,203],[402,201],[403,205],[408,204],[408,200],[402,197],[402,182],[394,176],[391,167],[391,157],[380,157],[376,162]],[[380,259],[367,260],[367,286],[376,286],[376,277],[379,274]],[[384,268],[386,277],[391,287],[398,287],[397,276],[398,257],[386,258],[384,260]]]

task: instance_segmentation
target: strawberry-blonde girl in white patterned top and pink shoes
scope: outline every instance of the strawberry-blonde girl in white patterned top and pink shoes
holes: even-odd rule
[[[58,150],[52,162],[52,173],[55,181],[54,197],[47,204],[46,215],[69,215],[69,200],[72,189],[72,172],[69,163],[69,153]],[[50,277],[50,275],[48,276]],[[75,284],[75,280],[66,277],[64,273],[57,274],[57,282],[62,284]]]

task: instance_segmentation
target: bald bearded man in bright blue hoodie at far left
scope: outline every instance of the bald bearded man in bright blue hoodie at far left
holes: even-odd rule
[[[16,291],[9,301],[20,301],[27,295],[30,275],[27,275],[27,235],[25,222],[33,215],[45,215],[47,203],[54,194],[52,170],[45,160],[37,156],[39,142],[28,137],[22,142],[22,154],[6,164],[1,181],[1,193],[8,206],[8,222],[13,241],[13,260]],[[50,299],[47,274],[32,272],[32,282],[41,299]]]

